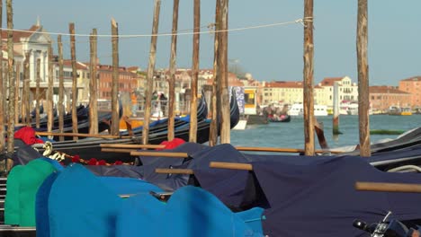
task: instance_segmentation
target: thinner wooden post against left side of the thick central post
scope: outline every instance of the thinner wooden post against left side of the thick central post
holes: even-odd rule
[[[220,100],[218,99],[219,93],[219,82],[220,82],[220,74],[219,74],[219,18],[220,18],[220,0],[216,0],[215,6],[215,39],[213,40],[213,81],[212,81],[212,94],[210,99],[210,134],[209,134],[209,145],[217,145],[218,144],[218,129],[219,129],[219,110],[220,110]],[[219,104],[219,106],[218,106]]]

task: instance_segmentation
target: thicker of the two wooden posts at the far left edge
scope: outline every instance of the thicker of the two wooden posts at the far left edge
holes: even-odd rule
[[[8,120],[7,120],[7,154],[9,158],[12,158],[14,153],[14,53],[13,53],[13,8],[12,0],[6,0],[7,4],[7,70],[9,75],[9,108],[8,108]],[[6,172],[10,171],[13,166],[13,160],[7,159],[6,161]]]

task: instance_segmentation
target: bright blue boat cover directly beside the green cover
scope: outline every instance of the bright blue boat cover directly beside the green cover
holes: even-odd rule
[[[116,216],[126,201],[119,194],[149,191],[163,190],[144,180],[100,178],[72,164],[49,177],[38,192],[37,236],[115,236]]]

